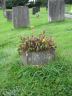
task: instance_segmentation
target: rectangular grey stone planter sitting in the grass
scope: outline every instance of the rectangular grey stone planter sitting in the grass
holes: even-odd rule
[[[48,64],[49,61],[54,61],[55,49],[51,48],[48,51],[40,52],[20,52],[20,59],[23,65],[40,65]]]

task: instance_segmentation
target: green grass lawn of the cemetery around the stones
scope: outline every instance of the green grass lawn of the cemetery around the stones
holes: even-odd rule
[[[66,7],[66,10],[70,10]],[[46,32],[55,37],[54,62],[37,68],[22,66],[17,51],[20,36],[31,36],[31,28],[14,29],[0,10],[0,96],[71,96],[72,94],[72,19],[47,23],[46,8],[40,18],[29,9],[34,35]]]

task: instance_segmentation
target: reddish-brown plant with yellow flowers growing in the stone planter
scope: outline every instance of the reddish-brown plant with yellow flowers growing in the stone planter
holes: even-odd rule
[[[32,28],[33,30],[33,28]],[[18,51],[26,52],[26,51],[42,51],[42,50],[48,50],[50,48],[56,48],[55,41],[50,36],[49,38],[45,37],[45,31],[43,31],[43,34],[39,34],[39,36],[34,36],[34,33],[31,37],[20,37],[21,44],[18,46]]]

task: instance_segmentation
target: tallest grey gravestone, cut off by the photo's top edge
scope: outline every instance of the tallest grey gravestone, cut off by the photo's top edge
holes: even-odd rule
[[[48,22],[63,20],[64,13],[64,0],[48,0]]]

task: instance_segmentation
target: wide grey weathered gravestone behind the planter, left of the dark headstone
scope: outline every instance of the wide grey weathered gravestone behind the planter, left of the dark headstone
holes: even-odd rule
[[[13,9],[13,26],[14,28],[20,28],[30,26],[29,22],[29,10],[27,6],[12,7]]]

